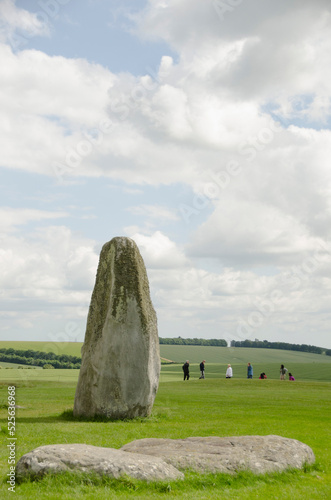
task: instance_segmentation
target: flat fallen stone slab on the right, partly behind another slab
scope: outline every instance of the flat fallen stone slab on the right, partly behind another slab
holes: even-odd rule
[[[280,436],[190,437],[187,439],[140,439],[123,451],[163,458],[180,470],[256,474],[301,468],[313,463],[312,449],[295,439]]]

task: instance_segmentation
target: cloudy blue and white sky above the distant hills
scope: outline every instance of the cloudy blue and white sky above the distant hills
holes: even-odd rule
[[[0,54],[2,340],[127,236],[159,336],[331,348],[329,0],[0,0]]]

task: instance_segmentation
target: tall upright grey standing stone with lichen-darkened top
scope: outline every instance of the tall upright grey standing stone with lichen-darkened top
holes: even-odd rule
[[[148,416],[160,374],[156,314],[135,242],[117,237],[100,254],[74,415]]]

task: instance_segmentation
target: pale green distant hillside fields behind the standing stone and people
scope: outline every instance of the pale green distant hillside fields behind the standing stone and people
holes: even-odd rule
[[[34,351],[54,352],[55,354],[67,354],[80,356],[82,342],[0,342],[0,348],[33,349]],[[162,366],[161,379],[165,382],[182,379],[182,363],[190,360],[191,377],[199,378],[199,363],[206,360],[206,376],[208,378],[224,378],[226,365],[230,363],[233,367],[234,378],[246,378],[247,362],[254,367],[254,378],[261,372],[265,372],[268,379],[279,378],[279,367],[283,363],[292,372],[296,381],[300,380],[323,380],[331,381],[331,356],[313,354],[298,351],[283,351],[276,349],[257,349],[245,347],[211,347],[211,346],[183,346],[183,345],[161,345],[161,357],[175,362]],[[8,364],[7,364],[8,366]],[[10,367],[14,368],[14,364]],[[16,366],[17,367],[17,366]],[[50,380],[62,379],[63,370],[42,370],[52,372],[41,375],[29,370],[29,374],[18,370],[19,377],[47,377]],[[64,370],[71,373],[70,377],[76,379],[78,370]],[[9,373],[10,372],[10,373]],[[1,370],[1,379],[12,378],[14,370]]]

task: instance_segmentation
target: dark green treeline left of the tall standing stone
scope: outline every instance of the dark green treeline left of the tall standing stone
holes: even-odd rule
[[[41,352],[29,349],[23,351],[20,349],[0,349],[0,361],[6,363],[17,363],[20,365],[41,366],[47,365],[48,368],[80,368],[81,358],[77,356],[68,356],[67,354],[54,354],[54,352]]]

